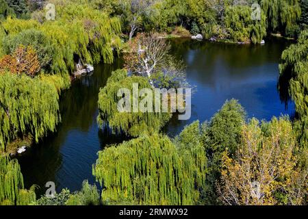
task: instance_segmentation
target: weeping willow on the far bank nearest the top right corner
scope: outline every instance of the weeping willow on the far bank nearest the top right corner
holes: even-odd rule
[[[298,0],[261,0],[261,7],[267,16],[268,31],[288,34],[294,30],[300,18]]]

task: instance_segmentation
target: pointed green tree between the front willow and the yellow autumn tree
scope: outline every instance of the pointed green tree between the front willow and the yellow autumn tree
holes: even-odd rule
[[[216,201],[216,180],[220,179],[221,160],[224,151],[234,155],[242,138],[242,127],[245,124],[246,112],[232,99],[226,101],[221,109],[203,127],[203,141],[209,159],[207,187],[203,191],[206,204],[218,204]]]

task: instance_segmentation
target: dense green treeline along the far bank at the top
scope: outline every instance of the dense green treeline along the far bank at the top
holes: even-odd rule
[[[93,0],[94,5],[120,16],[129,38],[137,31],[171,32],[176,26],[205,38],[259,43],[267,33],[296,37],[307,24],[306,3],[299,0]],[[253,5],[259,3],[259,6]],[[259,7],[259,8],[258,8]]]

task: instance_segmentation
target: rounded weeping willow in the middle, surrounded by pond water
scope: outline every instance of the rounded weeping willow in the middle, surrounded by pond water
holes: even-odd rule
[[[97,118],[100,126],[109,125],[114,132],[127,133],[130,136],[139,136],[143,131],[158,131],[169,119],[169,113],[153,112],[133,112],[133,83],[138,83],[138,89],[152,89],[149,80],[144,77],[127,77],[126,70],[116,70],[107,80],[104,88],[99,92],[99,116]],[[119,112],[118,102],[123,96],[117,96],[120,89],[127,88],[131,95],[129,96],[130,112]],[[125,95],[125,94],[123,94]],[[138,104],[143,98],[138,95]]]

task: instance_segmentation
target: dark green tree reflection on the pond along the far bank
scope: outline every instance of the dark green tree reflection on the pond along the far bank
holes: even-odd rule
[[[170,40],[172,55],[181,57],[190,50],[196,51],[196,58],[192,65],[200,63],[213,63],[218,58],[223,58],[229,68],[246,68],[259,66],[265,62],[277,62],[281,53],[290,41],[279,38],[268,38],[264,45],[231,44],[220,42],[207,42],[190,40],[189,38]],[[207,60],[204,60],[204,57]]]

